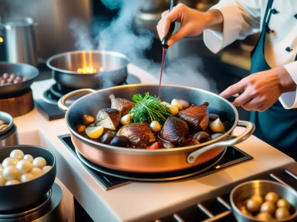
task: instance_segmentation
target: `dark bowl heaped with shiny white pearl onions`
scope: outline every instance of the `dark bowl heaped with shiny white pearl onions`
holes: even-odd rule
[[[56,157],[43,147],[1,147],[0,163],[0,211],[16,210],[38,202],[56,178]]]

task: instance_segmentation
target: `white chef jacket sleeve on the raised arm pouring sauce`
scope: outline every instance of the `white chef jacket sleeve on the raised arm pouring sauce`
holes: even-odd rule
[[[224,19],[222,33],[210,29],[203,31],[204,43],[213,53],[237,39],[259,32],[260,0],[220,0],[211,9],[219,10]]]

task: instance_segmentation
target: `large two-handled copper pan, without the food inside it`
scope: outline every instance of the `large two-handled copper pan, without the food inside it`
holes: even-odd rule
[[[159,173],[182,170],[203,164],[219,155],[227,146],[238,144],[246,140],[255,130],[254,124],[247,121],[238,121],[236,108],[217,94],[187,86],[163,85],[161,97],[166,101],[185,99],[193,104],[209,102],[209,113],[218,114],[221,119],[228,120],[231,128],[222,136],[206,143],[189,147],[172,149],[132,149],[113,147],[91,141],[76,133],[75,126],[81,124],[83,115],[95,116],[100,109],[110,107],[110,94],[116,97],[131,99],[134,94],[158,94],[157,84],[133,84],[116,86],[95,91],[93,89],[79,89],[63,96],[58,106],[67,111],[65,121],[71,132],[71,140],[75,148],[86,159],[107,168],[138,172]],[[65,102],[80,94],[89,93],[76,100],[70,107]],[[246,128],[240,136],[232,136],[236,126]]]

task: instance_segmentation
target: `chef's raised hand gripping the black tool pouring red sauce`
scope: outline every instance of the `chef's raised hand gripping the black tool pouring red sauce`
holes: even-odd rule
[[[172,46],[185,36],[198,36],[207,28],[222,31],[223,16],[218,10],[200,12],[184,4],[177,4],[170,12],[169,10],[163,12],[158,22],[157,31],[161,41],[167,36],[170,23],[175,21],[180,22],[181,27],[169,38],[168,46]]]

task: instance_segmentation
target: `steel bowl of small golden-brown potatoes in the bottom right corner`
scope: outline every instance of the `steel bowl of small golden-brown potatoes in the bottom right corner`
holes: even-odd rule
[[[254,180],[236,186],[230,193],[233,215],[238,221],[295,221],[297,192],[290,186]]]

